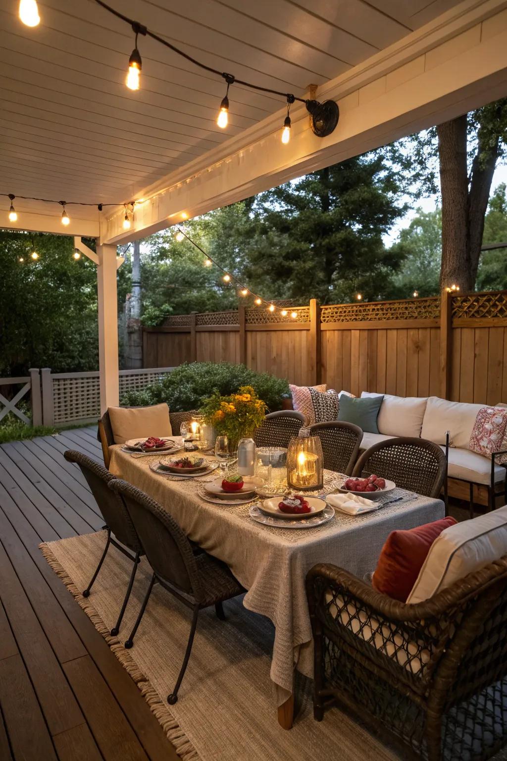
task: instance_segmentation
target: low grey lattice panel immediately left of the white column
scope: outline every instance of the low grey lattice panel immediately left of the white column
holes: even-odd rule
[[[99,374],[52,378],[55,423],[98,418],[100,414]]]

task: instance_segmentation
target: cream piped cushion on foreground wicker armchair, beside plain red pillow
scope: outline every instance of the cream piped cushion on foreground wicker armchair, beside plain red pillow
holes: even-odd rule
[[[429,549],[407,603],[428,600],[507,555],[507,505],[442,531]]]

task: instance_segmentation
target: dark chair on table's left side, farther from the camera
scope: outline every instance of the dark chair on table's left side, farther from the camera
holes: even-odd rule
[[[111,482],[115,476],[112,476],[112,474],[109,473],[109,470],[106,470],[106,468],[103,468],[102,465],[99,465],[99,463],[91,460],[90,457],[87,457],[86,454],[81,454],[81,452],[76,452],[72,449],[68,449],[66,452],[64,452],[63,456],[65,457],[65,460],[68,460],[69,463],[77,463],[81,468],[81,473],[83,473],[84,478],[87,480],[88,486],[90,486],[93,497],[97,502],[97,507],[99,508],[104,521],[106,521],[106,525],[103,526],[103,530],[107,532],[106,546],[104,547],[104,551],[99,560],[99,564],[93,573],[90,583],[83,591],[83,597],[88,597],[90,595],[91,587],[93,587],[93,582],[99,575],[100,568],[102,568],[102,564],[106,559],[109,545],[112,544],[116,547],[116,549],[119,549],[120,552],[123,552],[123,554],[128,557],[129,560],[132,560],[134,564],[132,566],[132,572],[130,579],[128,580],[128,587],[127,591],[125,592],[125,597],[123,598],[118,620],[116,621],[116,626],[113,626],[111,629],[111,635],[116,636],[122,623],[122,618],[123,614],[125,613],[125,608],[127,607],[128,598],[132,592],[135,572],[138,568],[138,563],[141,556],[144,555],[144,550],[142,548],[138,534],[135,531],[134,525],[132,524],[132,520],[125,508],[125,505],[121,499],[119,499],[115,494],[111,492],[110,489],[107,488],[109,482]],[[112,534],[114,537],[112,537]],[[128,549],[132,550],[132,552],[135,553],[135,556],[132,557],[130,552],[128,552],[125,547],[128,547]]]

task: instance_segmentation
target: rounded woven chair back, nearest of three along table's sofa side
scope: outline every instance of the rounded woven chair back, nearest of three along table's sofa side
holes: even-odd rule
[[[424,438],[389,438],[363,452],[353,476],[376,476],[394,481],[427,497],[438,497],[445,481],[447,460],[442,449]]]

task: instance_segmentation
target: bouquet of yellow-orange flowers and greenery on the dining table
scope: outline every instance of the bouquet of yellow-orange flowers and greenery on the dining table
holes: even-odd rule
[[[212,425],[219,435],[231,441],[251,437],[266,414],[266,404],[259,399],[252,386],[240,386],[237,393],[223,396],[214,391],[205,399],[199,410],[204,422]]]

